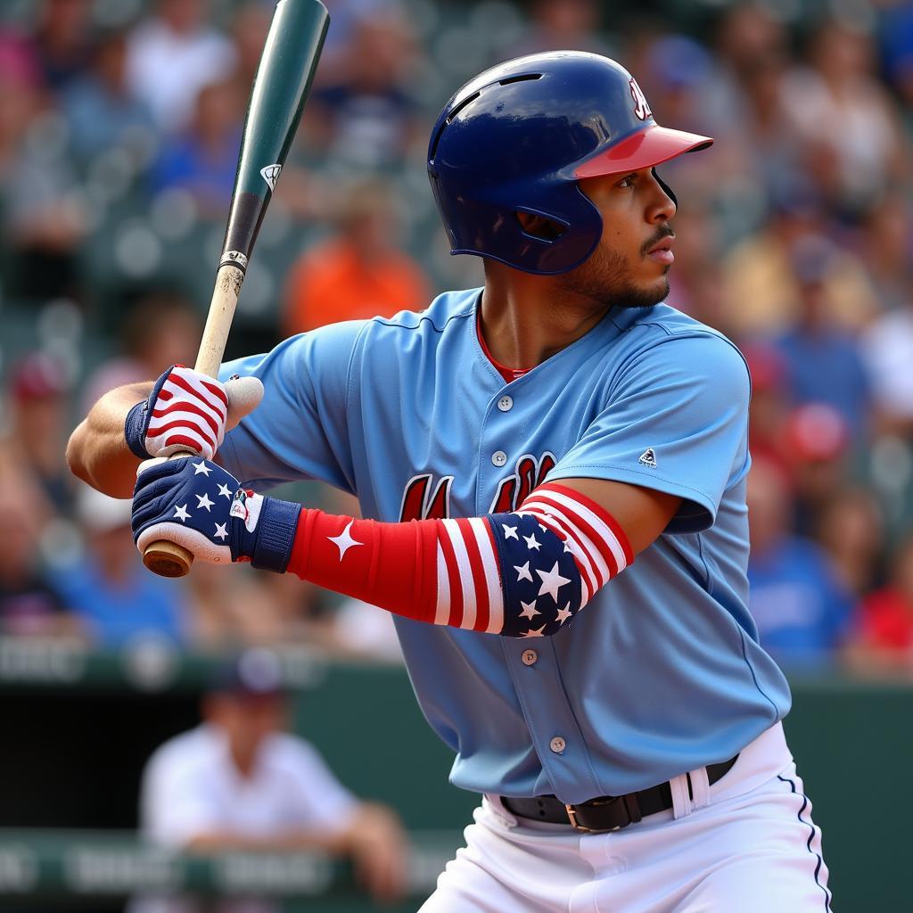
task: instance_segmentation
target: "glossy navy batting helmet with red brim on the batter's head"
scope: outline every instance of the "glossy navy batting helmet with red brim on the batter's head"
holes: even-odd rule
[[[456,92],[431,132],[428,174],[452,254],[548,276],[580,266],[602,236],[581,178],[650,168],[711,142],[660,127],[614,60],[550,51]],[[554,231],[530,234],[518,213],[544,216]]]

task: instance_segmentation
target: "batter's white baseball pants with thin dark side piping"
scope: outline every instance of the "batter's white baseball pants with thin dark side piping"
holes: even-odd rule
[[[827,866],[778,723],[719,782],[611,834],[516,818],[488,796],[420,913],[828,913]]]

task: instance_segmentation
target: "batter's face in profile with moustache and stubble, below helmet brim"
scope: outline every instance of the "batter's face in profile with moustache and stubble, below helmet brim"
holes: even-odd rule
[[[586,178],[580,186],[603,216],[603,236],[580,267],[558,277],[559,287],[621,308],[665,299],[676,205],[653,169]]]

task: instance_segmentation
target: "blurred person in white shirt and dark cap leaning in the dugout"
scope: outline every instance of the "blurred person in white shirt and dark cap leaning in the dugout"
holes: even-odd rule
[[[322,851],[352,858],[379,901],[404,890],[405,843],[394,813],[360,802],[309,742],[282,730],[287,716],[278,661],[242,653],[220,670],[204,722],[156,750],[142,777],[142,831],[189,852]],[[138,900],[130,913],[196,913],[188,898]],[[206,904],[211,913],[272,913],[255,899]]]

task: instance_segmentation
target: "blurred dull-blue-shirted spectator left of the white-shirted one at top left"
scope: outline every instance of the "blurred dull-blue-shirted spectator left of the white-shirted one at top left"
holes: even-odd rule
[[[126,32],[100,36],[89,70],[61,94],[70,146],[83,162],[121,146],[142,163],[155,142],[152,112],[127,87],[126,54]]]

